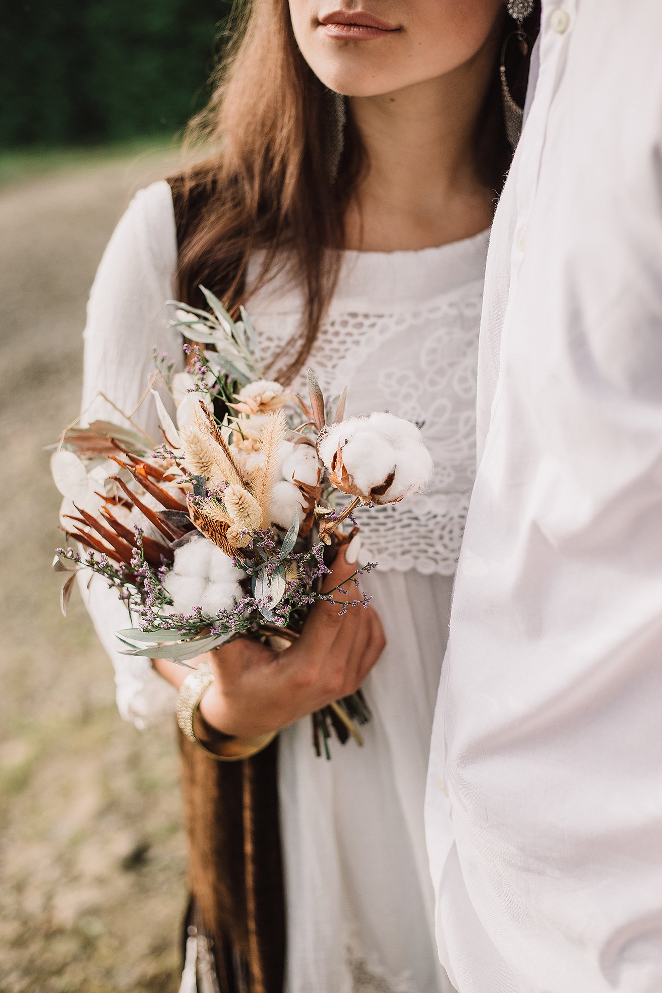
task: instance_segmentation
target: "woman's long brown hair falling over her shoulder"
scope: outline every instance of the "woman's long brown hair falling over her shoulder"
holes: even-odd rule
[[[186,231],[179,245],[179,294],[203,307],[201,284],[236,311],[246,294],[248,259],[255,249],[265,249],[251,292],[279,269],[303,291],[300,334],[279,359],[279,374],[288,380],[309,354],[331,300],[343,218],[366,156],[347,115],[331,183],[330,93],[299,51],[287,0],[244,0],[235,17],[234,42],[224,53],[207,108],[191,127],[194,137],[218,151],[179,178],[186,203],[186,217],[178,218],[180,231]],[[535,24],[535,13],[530,21]],[[527,71],[528,65],[516,66],[513,84],[521,88]],[[475,155],[485,184],[498,195],[511,150],[496,66],[493,76]]]

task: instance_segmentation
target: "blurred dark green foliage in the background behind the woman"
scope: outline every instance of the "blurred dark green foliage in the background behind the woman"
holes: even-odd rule
[[[199,109],[229,0],[17,0],[0,17],[0,147],[126,141]]]

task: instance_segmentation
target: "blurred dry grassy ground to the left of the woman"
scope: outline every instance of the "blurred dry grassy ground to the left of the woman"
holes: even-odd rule
[[[44,446],[77,413],[87,291],[166,152],[0,187],[0,993],[177,989],[185,844],[173,728],[139,733],[75,597]]]

